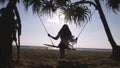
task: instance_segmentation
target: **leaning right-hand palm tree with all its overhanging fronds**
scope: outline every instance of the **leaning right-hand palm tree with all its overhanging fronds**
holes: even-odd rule
[[[4,0],[2,1],[4,2]],[[75,24],[82,24],[82,22],[89,20],[91,10],[88,8],[88,5],[85,4],[93,5],[100,15],[106,35],[112,46],[111,57],[120,60],[120,47],[112,37],[100,0],[79,0],[76,2],[72,2],[72,0],[22,0],[22,2],[26,9],[31,6],[34,13],[51,14],[57,10],[61,10],[66,15],[66,21],[74,22]],[[106,0],[105,3],[113,12],[118,12],[120,10],[120,0]]]

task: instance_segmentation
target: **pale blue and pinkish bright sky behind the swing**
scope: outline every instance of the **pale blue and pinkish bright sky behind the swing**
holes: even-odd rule
[[[102,6],[105,4],[102,3]],[[4,7],[5,5],[0,5]],[[52,44],[47,33],[38,17],[38,15],[33,14],[32,9],[29,8],[28,11],[25,10],[22,4],[17,5],[22,23],[22,35],[21,35],[21,45],[30,46],[45,46],[43,44]],[[118,45],[120,45],[120,13],[115,14],[111,10],[102,7],[108,25],[112,32],[113,38]],[[94,8],[91,7],[92,12]],[[53,14],[50,16],[42,16],[42,21],[49,32],[49,34],[56,36],[58,31],[64,24],[63,19],[59,19],[60,13]],[[76,26],[74,23],[67,23],[73,36],[77,37],[82,27]],[[60,42],[59,40],[52,39],[53,43],[57,46]],[[80,36],[78,37],[77,44],[74,45],[75,48],[111,48],[111,45],[107,39],[104,27],[102,25],[101,19],[99,17],[98,11],[95,10],[92,15],[91,20],[88,22]]]

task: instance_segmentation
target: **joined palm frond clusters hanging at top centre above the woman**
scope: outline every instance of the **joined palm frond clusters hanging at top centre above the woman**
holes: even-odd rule
[[[75,5],[70,0],[23,0],[23,3],[26,9],[31,6],[34,13],[51,14],[61,10],[65,14],[65,21],[79,25],[88,21],[91,14],[87,6]]]

